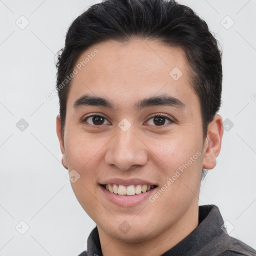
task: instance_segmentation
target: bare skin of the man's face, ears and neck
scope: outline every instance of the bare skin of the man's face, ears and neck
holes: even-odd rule
[[[108,40],[86,49],[76,64],[95,48],[99,52],[71,81],[63,138],[57,116],[62,164],[80,174],[71,185],[97,224],[104,256],[161,255],[198,225],[201,170],[216,164],[223,134],[221,116],[215,115],[203,141],[200,105],[181,48],[145,39]],[[183,73],[178,80],[169,75],[175,66]],[[74,107],[84,94],[107,98],[116,109]],[[139,111],[133,107],[139,100],[162,94],[184,106],[156,105]],[[175,122],[165,119],[162,125],[155,124],[152,117],[158,113]],[[91,114],[106,119],[101,126],[93,124],[92,118],[82,121]],[[118,126],[123,118],[131,124],[127,131]],[[197,151],[201,155],[154,202],[118,206],[99,186],[107,178],[142,178],[160,188]],[[118,228],[123,221],[131,227],[126,233]]]

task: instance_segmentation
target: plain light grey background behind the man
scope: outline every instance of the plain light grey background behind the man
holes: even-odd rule
[[[234,124],[224,131],[217,166],[202,181],[199,202],[216,204],[229,231],[233,227],[230,235],[256,248],[256,1],[179,2],[205,19],[223,48],[219,113]],[[60,163],[57,96],[46,98],[55,85],[54,54],[71,21],[92,3],[96,1],[0,0],[2,256],[77,256],[95,226]],[[24,29],[15,23],[25,24],[21,15],[29,21]],[[231,19],[234,24],[226,29]],[[16,127],[21,118],[29,124],[23,131]],[[25,231],[21,220],[29,226],[24,234],[15,229],[18,224]]]

